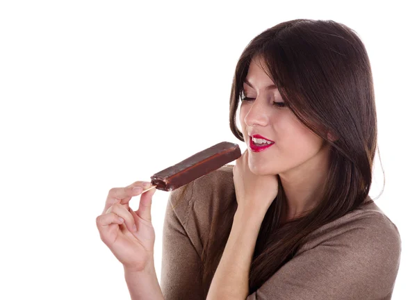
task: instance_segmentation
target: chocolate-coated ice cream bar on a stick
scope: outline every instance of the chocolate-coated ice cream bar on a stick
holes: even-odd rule
[[[220,142],[151,176],[158,190],[172,191],[240,157],[238,144]]]

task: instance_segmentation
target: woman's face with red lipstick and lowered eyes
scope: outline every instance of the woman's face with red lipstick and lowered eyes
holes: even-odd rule
[[[285,106],[278,89],[259,63],[259,59],[254,58],[250,64],[243,85],[244,96],[250,100],[242,101],[239,116],[250,170],[258,175],[291,174],[298,170],[295,173],[302,175],[324,157],[325,153],[320,151],[324,141]],[[253,151],[250,139],[256,134],[272,141],[271,146]]]

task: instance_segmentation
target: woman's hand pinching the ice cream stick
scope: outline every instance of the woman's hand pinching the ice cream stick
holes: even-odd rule
[[[156,189],[142,194],[151,185],[136,181],[125,188],[112,188],[103,213],[96,219],[101,240],[122,263],[125,271],[142,272],[154,266],[155,231],[151,204]],[[134,211],[129,207],[129,201],[140,194],[139,208]]]

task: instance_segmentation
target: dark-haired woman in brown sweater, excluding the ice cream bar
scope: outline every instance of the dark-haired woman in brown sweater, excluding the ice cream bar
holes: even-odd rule
[[[97,226],[132,299],[391,299],[401,240],[368,196],[377,117],[357,34],[296,19],[258,35],[236,66],[230,124],[248,148],[236,165],[170,194],[162,289],[154,190],[136,212],[149,183],[110,190]]]

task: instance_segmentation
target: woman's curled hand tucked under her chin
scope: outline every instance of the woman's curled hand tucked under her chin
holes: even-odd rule
[[[249,169],[247,150],[236,160],[233,181],[238,209],[248,214],[263,214],[278,194],[277,175],[256,175]]]

